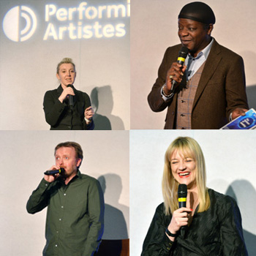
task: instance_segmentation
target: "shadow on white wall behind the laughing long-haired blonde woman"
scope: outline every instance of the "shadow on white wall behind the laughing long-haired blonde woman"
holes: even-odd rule
[[[249,181],[241,180],[241,181],[233,181],[232,184],[227,188],[226,195],[230,195],[233,197],[238,203],[240,211],[244,211],[244,216],[248,216],[248,224],[243,221],[244,225],[252,226],[255,225],[256,222],[256,191],[255,188],[252,187],[252,184]],[[243,230],[244,232],[244,241],[246,244],[246,248],[248,251],[248,255],[255,255],[256,252],[256,234],[250,233],[249,231]]]

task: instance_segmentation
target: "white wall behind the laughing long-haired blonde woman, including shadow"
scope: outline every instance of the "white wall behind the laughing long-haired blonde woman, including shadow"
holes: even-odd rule
[[[206,159],[207,187],[236,198],[249,255],[256,249],[254,131],[130,131],[130,253],[140,255],[155,209],[162,203],[167,147],[178,136],[195,138]]]

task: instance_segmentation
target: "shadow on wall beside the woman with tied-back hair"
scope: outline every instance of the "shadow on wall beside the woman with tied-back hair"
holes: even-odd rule
[[[94,108],[94,129],[124,129],[124,122],[113,116],[113,95],[110,86],[95,87],[91,91],[91,105]]]

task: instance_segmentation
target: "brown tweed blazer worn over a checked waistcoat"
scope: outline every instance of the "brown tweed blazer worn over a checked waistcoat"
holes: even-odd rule
[[[181,45],[167,48],[156,83],[148,94],[151,110],[159,112],[167,108],[165,129],[176,127],[178,91],[186,86],[184,79],[169,102],[161,97],[160,90],[165,83],[167,70],[177,61],[180,49]],[[192,129],[219,129],[228,123],[230,113],[235,108],[249,108],[245,91],[244,61],[241,56],[219,45],[214,39],[193,102]]]

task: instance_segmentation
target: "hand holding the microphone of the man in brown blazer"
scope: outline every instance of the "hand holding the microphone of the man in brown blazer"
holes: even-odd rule
[[[176,87],[181,83],[186,68],[186,66],[182,67],[181,64],[178,64],[178,62],[173,62],[172,66],[170,67],[166,74],[166,82],[164,87],[165,94],[171,94],[176,89],[173,88],[173,91],[170,90],[172,87],[173,80],[177,82]]]

